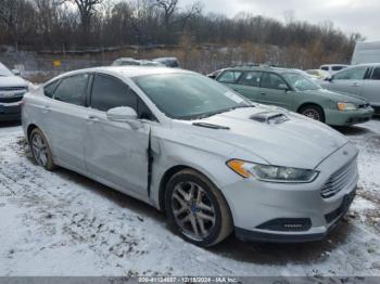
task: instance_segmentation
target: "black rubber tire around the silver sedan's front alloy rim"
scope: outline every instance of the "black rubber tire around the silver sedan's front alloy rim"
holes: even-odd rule
[[[177,199],[174,197],[174,194],[177,192],[177,196],[178,196],[178,190],[176,190],[176,186],[177,185],[183,186],[183,184],[186,186],[187,183],[189,183],[189,186],[191,186],[190,184],[198,185],[199,186],[198,194],[200,194],[201,198],[203,198],[201,201],[201,203],[203,204],[202,206],[207,204],[208,207],[212,207],[214,209],[214,214],[206,212],[207,210],[203,210],[203,208],[202,209],[195,208],[195,212],[192,212],[191,209],[189,208],[187,212],[183,212],[185,215],[189,215],[190,217],[194,216],[193,218],[197,219],[197,221],[194,221],[195,227],[200,231],[202,231],[203,229],[203,232],[204,232],[205,227],[207,224],[210,225],[210,228],[207,229],[208,230],[207,234],[204,234],[203,236],[195,237],[195,235],[190,235],[189,230],[186,229],[186,225],[179,224],[178,215],[176,218],[176,215],[174,212],[175,211],[174,207],[177,202]],[[201,247],[210,247],[224,241],[233,230],[232,217],[225,197],[223,196],[220,191],[216,189],[216,186],[206,177],[204,177],[203,175],[199,173],[195,170],[185,169],[177,172],[170,178],[165,190],[165,210],[166,210],[166,216],[170,222],[170,225],[174,228],[174,230],[178,232],[179,235],[183,237],[186,241]],[[204,219],[201,218],[201,215],[202,216],[213,215],[214,221],[210,221],[207,223],[207,220],[204,221]],[[187,221],[187,222],[190,223],[190,227],[193,225],[192,222],[190,221]],[[202,229],[201,229],[200,222],[203,222]]]

